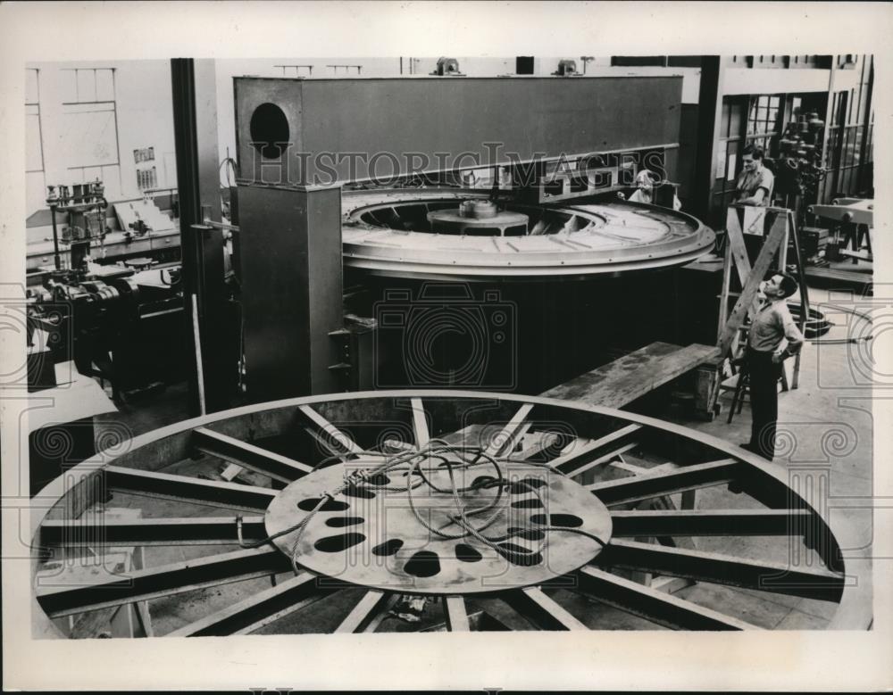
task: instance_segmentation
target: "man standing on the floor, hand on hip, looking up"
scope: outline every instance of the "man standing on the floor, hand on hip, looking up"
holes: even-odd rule
[[[797,292],[797,280],[776,273],[760,284],[764,302],[751,322],[747,336],[747,369],[750,373],[750,410],[753,423],[750,442],[742,448],[764,459],[775,456],[775,426],[778,421],[778,380],[784,360],[800,352],[800,333],[788,310],[787,299]],[[781,349],[781,343],[787,345]]]

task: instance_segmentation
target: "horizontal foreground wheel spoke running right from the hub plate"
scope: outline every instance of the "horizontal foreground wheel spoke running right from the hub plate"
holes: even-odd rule
[[[803,534],[808,509],[614,509],[614,538],[636,536],[797,535]]]

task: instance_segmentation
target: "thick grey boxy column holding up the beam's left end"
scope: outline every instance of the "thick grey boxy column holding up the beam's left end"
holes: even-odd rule
[[[250,401],[344,390],[341,189],[238,186]]]

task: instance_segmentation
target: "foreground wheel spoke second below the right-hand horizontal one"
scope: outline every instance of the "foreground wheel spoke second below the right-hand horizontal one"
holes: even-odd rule
[[[578,590],[591,599],[674,630],[759,630],[743,620],[595,567],[575,573]]]

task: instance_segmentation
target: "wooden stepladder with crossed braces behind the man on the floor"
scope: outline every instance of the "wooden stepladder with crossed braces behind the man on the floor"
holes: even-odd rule
[[[745,235],[763,236],[764,243],[757,255],[754,265],[751,266],[747,255]],[[747,332],[742,327],[747,325],[749,319],[753,319],[759,308],[757,291],[766,273],[772,267],[772,261],[776,258],[776,269],[783,272],[787,268],[788,240],[794,242],[795,264],[800,283],[800,330],[805,329],[805,321],[809,316],[809,298],[805,285],[803,260],[800,253],[799,239],[793,211],[787,208],[766,207],[758,208],[733,204],[729,206],[726,218],[725,258],[722,269],[722,294],[720,295],[720,314],[717,329],[716,344],[720,349],[720,359],[717,363],[717,383],[714,387],[711,401],[711,409],[714,409],[716,401],[722,390],[720,372],[722,362],[726,359],[734,359],[738,356],[742,338],[746,339]],[[729,311],[729,300],[734,294],[731,292],[732,268],[738,273],[741,292],[735,306]],[[797,380],[800,371],[800,356],[794,361],[794,371],[790,387],[797,388]]]

